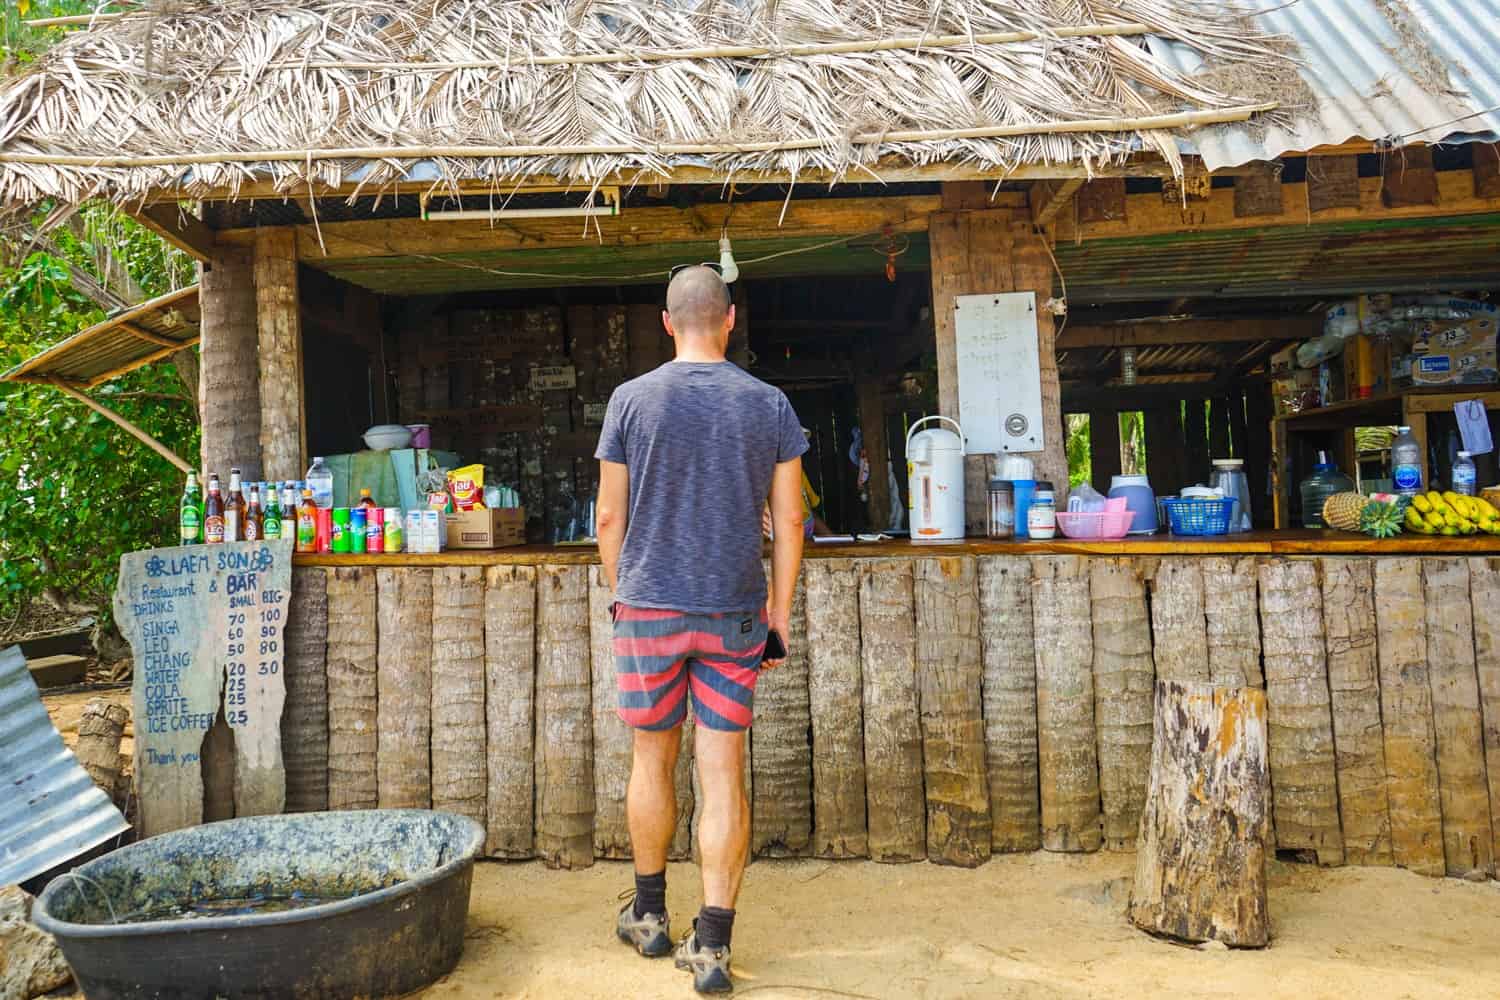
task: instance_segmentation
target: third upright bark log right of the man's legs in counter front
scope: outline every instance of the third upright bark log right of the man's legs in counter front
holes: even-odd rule
[[[860,661],[870,858],[885,862],[927,856],[912,600],[910,559],[861,561]]]

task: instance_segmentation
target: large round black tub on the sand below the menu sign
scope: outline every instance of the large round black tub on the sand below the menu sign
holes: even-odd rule
[[[483,844],[422,810],[226,820],[62,876],[33,919],[88,1000],[394,996],[458,964]]]

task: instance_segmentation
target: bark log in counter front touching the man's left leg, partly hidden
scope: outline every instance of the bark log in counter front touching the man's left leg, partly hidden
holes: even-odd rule
[[[615,624],[609,618],[604,567],[588,568],[590,676],[594,697],[594,856],[630,858],[626,786],[630,783],[630,727],[615,711]]]

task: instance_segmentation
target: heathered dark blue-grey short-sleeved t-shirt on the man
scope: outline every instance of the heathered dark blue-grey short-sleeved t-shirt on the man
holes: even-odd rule
[[[669,361],[609,397],[594,457],[630,472],[615,597],[698,615],[765,606],[760,510],[807,451],[786,394],[729,361]]]

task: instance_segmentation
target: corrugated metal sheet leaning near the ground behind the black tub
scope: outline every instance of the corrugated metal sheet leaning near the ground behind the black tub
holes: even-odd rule
[[[130,828],[46,717],[20,646],[0,651],[0,886]]]

